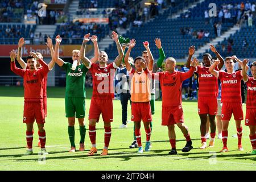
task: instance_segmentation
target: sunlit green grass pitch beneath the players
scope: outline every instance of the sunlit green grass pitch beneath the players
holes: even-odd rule
[[[256,156],[250,155],[249,127],[243,125],[242,144],[245,151],[237,150],[236,125],[232,118],[229,125],[229,152],[220,153],[222,141],[216,139],[215,146],[200,150],[200,119],[197,115],[197,102],[183,102],[185,124],[189,128],[193,142],[193,150],[181,152],[185,138],[176,127],[176,148],[178,155],[170,156],[170,143],[167,127],[161,126],[161,101],[155,103],[153,116],[153,131],[151,135],[152,148],[149,152],[137,154],[138,148],[130,149],[133,142],[133,123],[128,123],[127,129],[119,129],[122,124],[120,101],[114,100],[114,122],[112,123],[112,138],[109,145],[109,155],[100,156],[104,147],[104,125],[102,118],[97,123],[96,144],[98,152],[87,156],[90,150],[88,135],[88,111],[92,89],[86,89],[86,136],[85,151],[69,153],[68,121],[65,118],[64,88],[48,88],[48,117],[46,118],[46,150],[49,155],[46,160],[40,159],[37,126],[34,125],[34,155],[24,156],[26,152],[26,125],[23,117],[23,88],[0,87],[0,170],[255,170]],[[106,107],[108,109],[108,107]],[[245,106],[243,106],[245,113]],[[131,118],[130,105],[128,119]],[[143,125],[142,125],[143,126]],[[79,124],[76,121],[75,141],[79,149]],[[146,135],[141,129],[143,147]],[[209,140],[208,140],[209,143]]]

